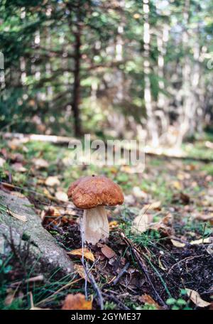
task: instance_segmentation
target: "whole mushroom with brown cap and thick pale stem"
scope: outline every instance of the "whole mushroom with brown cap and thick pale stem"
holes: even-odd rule
[[[104,206],[121,205],[124,195],[119,185],[103,175],[90,175],[76,180],[67,191],[74,205],[84,210],[82,240],[96,244],[109,237],[109,222]]]

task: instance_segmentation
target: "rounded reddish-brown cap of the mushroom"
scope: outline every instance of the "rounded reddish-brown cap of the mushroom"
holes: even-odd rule
[[[119,185],[103,175],[92,175],[76,180],[67,191],[75,206],[89,209],[97,206],[115,206],[124,202]]]

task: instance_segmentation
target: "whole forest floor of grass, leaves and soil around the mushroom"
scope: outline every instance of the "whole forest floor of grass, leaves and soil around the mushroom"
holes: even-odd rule
[[[212,157],[211,148],[196,145],[196,157]],[[188,153],[192,144],[185,148]],[[81,261],[81,211],[66,191],[73,180],[93,173],[119,183],[125,203],[107,210],[109,241],[85,247],[91,279]],[[146,156],[143,173],[131,173],[130,166],[70,166],[66,147],[12,139],[0,144],[0,178],[2,189],[28,197],[61,247],[80,249],[70,254],[75,272],[50,274],[45,282],[26,281],[14,255],[0,260],[1,309],[31,308],[31,297],[40,308],[69,308],[65,297],[76,293],[89,298],[80,298],[79,309],[98,309],[102,302],[104,309],[213,308],[212,163]]]

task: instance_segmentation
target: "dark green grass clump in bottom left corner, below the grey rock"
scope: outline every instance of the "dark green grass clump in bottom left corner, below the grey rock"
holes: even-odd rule
[[[8,259],[5,261],[1,260],[1,271],[0,271],[0,309],[29,309],[31,308],[29,292],[32,293],[34,306],[60,308],[62,301],[67,296],[67,293],[83,293],[83,288],[79,285],[76,286],[80,279],[77,278],[77,274],[72,273],[67,276],[63,276],[59,279],[58,269],[48,278],[45,278],[42,284],[40,283],[27,283],[25,280],[36,276],[31,270],[33,265],[26,267],[26,274],[21,278],[11,280],[11,276],[16,276],[17,267],[22,267],[22,264],[18,264],[18,260],[13,254],[10,254]],[[16,285],[16,281],[22,281],[20,285]],[[70,285],[70,286],[68,286]],[[64,287],[66,289],[63,289]],[[13,287],[13,292],[21,292],[21,296],[18,293],[14,296],[13,301],[6,305],[6,297],[9,294],[9,288]]]

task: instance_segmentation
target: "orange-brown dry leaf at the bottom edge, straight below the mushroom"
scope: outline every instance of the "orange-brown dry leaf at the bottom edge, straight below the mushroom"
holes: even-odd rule
[[[73,295],[69,293],[65,298],[62,310],[91,310],[92,301],[86,301],[85,296],[82,293],[77,293]]]

